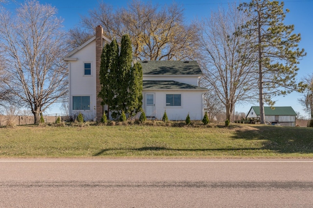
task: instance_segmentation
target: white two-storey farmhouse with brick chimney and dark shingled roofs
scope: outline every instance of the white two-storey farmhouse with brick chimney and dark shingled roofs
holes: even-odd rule
[[[85,120],[100,120],[104,107],[97,97],[101,86],[99,71],[102,47],[111,40],[103,35],[101,26],[96,35],[64,60],[69,72],[69,115],[79,113]],[[199,86],[201,69],[196,61],[142,61],[143,109],[147,117],[169,120],[201,120],[204,116],[203,95]]]

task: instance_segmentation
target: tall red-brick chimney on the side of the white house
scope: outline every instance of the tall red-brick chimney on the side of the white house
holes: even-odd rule
[[[97,121],[100,121],[103,115],[103,106],[101,105],[101,98],[98,98],[98,94],[101,90],[100,85],[100,64],[101,64],[101,53],[102,53],[102,47],[103,47],[103,28],[101,25],[98,25],[96,27],[96,116]]]

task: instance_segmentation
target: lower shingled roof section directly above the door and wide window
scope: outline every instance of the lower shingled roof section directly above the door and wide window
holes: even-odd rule
[[[199,89],[207,90],[206,88],[195,86],[192,84],[179,83],[176,81],[143,81],[143,89]]]

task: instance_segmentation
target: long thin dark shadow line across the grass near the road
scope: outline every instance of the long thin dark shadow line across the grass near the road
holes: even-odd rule
[[[108,148],[108,149],[101,149],[99,152],[93,154],[92,156],[100,156],[108,151],[236,151],[236,150],[259,150],[260,148],[203,148],[203,149],[175,149],[175,148],[167,148],[167,147],[160,147],[160,146],[145,146],[140,148]]]

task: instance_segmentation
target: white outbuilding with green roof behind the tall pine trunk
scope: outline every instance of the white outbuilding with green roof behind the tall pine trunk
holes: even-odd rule
[[[295,126],[296,112],[291,106],[264,107],[265,121],[271,124],[281,124],[284,126]],[[260,117],[260,107],[252,106],[246,118]]]

